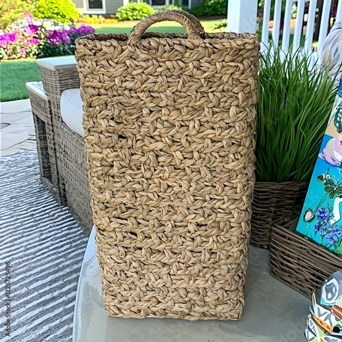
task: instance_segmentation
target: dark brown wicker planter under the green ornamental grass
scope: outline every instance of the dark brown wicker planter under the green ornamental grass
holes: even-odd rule
[[[269,249],[274,222],[289,222],[300,215],[308,182],[257,182],[252,200],[250,244]]]

